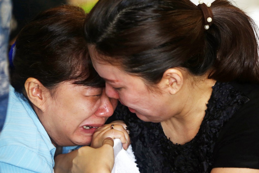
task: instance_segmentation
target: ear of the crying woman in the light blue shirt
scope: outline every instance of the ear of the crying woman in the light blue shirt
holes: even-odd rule
[[[43,91],[46,90],[46,87],[44,87],[41,82],[35,78],[28,78],[25,81],[24,87],[27,93],[27,97],[32,102],[32,104],[41,110],[45,109],[45,97],[43,95]]]

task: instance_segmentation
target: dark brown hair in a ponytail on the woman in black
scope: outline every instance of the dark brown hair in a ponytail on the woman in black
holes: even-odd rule
[[[259,81],[258,29],[227,0],[211,5],[213,25],[189,0],[99,0],[84,25],[85,38],[103,61],[157,84],[184,67],[219,81]]]

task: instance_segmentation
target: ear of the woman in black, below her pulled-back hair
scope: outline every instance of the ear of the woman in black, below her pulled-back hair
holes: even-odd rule
[[[176,94],[183,86],[183,74],[176,68],[169,68],[163,74],[160,85],[166,92]]]

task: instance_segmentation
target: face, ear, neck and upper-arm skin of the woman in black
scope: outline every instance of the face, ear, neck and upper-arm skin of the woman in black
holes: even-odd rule
[[[106,94],[118,99],[143,121],[161,122],[165,135],[173,143],[185,144],[198,133],[215,82],[208,74],[190,75],[184,68],[164,72],[156,89],[148,89],[138,76],[128,74],[112,64],[101,61],[103,55],[89,45],[93,66],[106,82]],[[214,168],[212,173],[259,172],[246,168]]]

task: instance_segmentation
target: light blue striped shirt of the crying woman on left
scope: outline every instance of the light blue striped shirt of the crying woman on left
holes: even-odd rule
[[[55,150],[31,106],[10,86],[6,120],[0,135],[0,172],[53,173]]]

